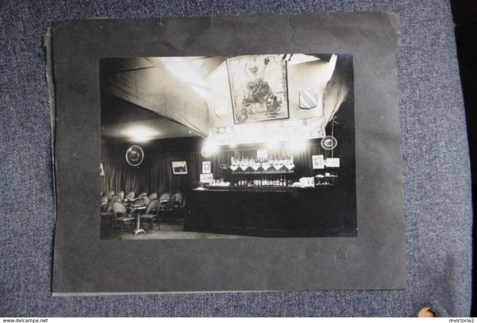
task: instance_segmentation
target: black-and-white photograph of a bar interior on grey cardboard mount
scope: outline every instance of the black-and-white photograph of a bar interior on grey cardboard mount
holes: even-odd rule
[[[100,60],[101,239],[357,236],[353,55]]]

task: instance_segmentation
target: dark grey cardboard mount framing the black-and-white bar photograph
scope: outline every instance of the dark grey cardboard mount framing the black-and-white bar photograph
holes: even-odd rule
[[[53,293],[406,288],[397,21],[361,12],[55,22]],[[100,58],[268,53],[353,53],[357,237],[100,240]]]

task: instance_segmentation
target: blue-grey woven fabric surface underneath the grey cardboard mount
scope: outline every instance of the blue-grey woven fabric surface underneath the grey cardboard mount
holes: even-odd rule
[[[361,10],[400,18],[407,290],[51,296],[55,210],[41,38],[52,21]],[[453,27],[446,0],[1,1],[0,316],[416,316],[423,306],[467,316],[472,210]]]

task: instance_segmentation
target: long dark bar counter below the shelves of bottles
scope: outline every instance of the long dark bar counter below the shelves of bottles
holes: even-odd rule
[[[355,236],[354,197],[339,186],[192,190],[184,231],[255,237]]]

